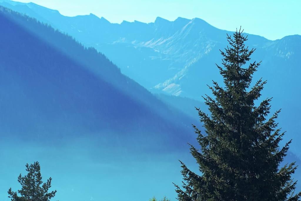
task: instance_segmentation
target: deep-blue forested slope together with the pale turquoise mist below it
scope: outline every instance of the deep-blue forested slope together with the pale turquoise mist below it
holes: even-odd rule
[[[0,7],[0,26],[0,197],[33,161],[59,200],[175,196],[190,117],[33,18]]]

